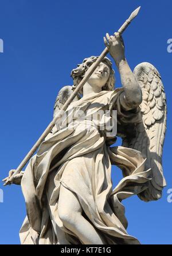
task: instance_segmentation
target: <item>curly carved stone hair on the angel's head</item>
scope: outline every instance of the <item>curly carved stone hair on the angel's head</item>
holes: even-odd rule
[[[85,72],[97,60],[97,58],[98,57],[95,57],[95,56],[86,58],[84,59],[83,63],[77,65],[77,68],[71,71],[71,77],[73,78],[73,86],[72,86],[73,91],[85,76]],[[108,67],[110,67],[110,70],[111,70],[110,77],[108,78],[107,83],[103,86],[102,91],[112,91],[115,87],[115,76],[114,76],[115,71],[112,69],[112,62],[107,57],[105,57],[102,62],[108,65]],[[83,94],[83,89],[81,89],[80,93]]]

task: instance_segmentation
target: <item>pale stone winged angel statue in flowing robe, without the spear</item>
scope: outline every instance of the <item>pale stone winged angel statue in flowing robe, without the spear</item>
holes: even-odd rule
[[[122,200],[131,195],[146,202],[161,198],[166,185],[162,170],[166,98],[161,76],[146,62],[132,73],[118,32],[107,33],[104,43],[122,88],[114,88],[112,62],[105,57],[65,111],[60,126],[54,126],[26,170],[15,176],[13,183],[21,184],[27,209],[19,232],[22,244],[139,244],[126,231]],[[96,59],[86,58],[72,70],[73,85],[58,93],[55,116]],[[106,122],[115,110],[114,135]],[[104,115],[93,118],[99,111]],[[122,146],[114,146],[118,136]],[[115,189],[113,164],[123,174]]]

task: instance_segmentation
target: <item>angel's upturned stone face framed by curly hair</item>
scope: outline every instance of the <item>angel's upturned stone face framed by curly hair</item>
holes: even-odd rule
[[[104,62],[101,62],[91,77],[89,77],[88,82],[92,86],[96,85],[102,88],[107,83],[110,73],[110,67]]]

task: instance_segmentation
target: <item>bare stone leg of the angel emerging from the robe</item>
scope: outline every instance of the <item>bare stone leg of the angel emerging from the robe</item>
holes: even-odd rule
[[[83,244],[104,244],[95,228],[82,216],[82,208],[75,194],[60,188],[58,199],[58,215],[70,231],[72,231]]]

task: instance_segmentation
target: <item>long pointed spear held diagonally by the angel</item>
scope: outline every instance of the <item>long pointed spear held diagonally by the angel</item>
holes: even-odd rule
[[[131,23],[131,21],[138,15],[140,10],[140,6],[134,10],[134,12],[131,13],[130,17],[124,22],[124,24],[122,25],[122,27],[120,27],[120,29],[118,30],[118,32],[120,33],[120,35],[122,35],[122,33],[126,30],[126,28],[128,27],[128,25]],[[62,106],[61,111],[65,111],[67,110],[69,104],[72,102],[72,100],[75,98],[75,96],[77,95],[77,93],[79,92],[79,90],[81,88],[83,88],[85,82],[88,81],[88,78],[91,77],[93,71],[96,70],[97,66],[99,66],[100,62],[103,61],[105,55],[107,55],[109,52],[108,48],[105,47],[104,51],[101,52],[99,58],[97,58],[96,62],[93,63],[91,65],[91,67],[89,67],[89,69],[87,70],[87,72],[85,73],[85,76],[83,78],[83,80],[81,80],[81,82],[79,83],[79,85],[77,85],[75,91],[71,94],[71,96],[69,97],[69,99],[66,101],[66,103],[64,104],[64,106]],[[30,149],[30,151],[28,152],[28,154],[25,156],[24,160],[22,160],[21,164],[18,165],[18,168],[15,170],[14,174],[11,175],[11,177],[9,179],[6,180],[6,182],[3,184],[4,186],[6,185],[10,185],[11,183],[13,183],[14,180],[14,175],[19,174],[19,172],[21,172],[22,168],[26,165],[26,163],[28,163],[29,159],[33,156],[34,152],[36,152],[38,146],[40,146],[41,142],[44,141],[46,135],[49,134],[49,132],[53,129],[54,125],[57,122],[57,119],[60,118],[60,116],[55,116],[52,120],[52,122],[50,122],[50,124],[48,125],[48,127],[46,127],[44,133],[42,133],[41,137],[37,140],[36,144],[34,144],[33,148]]]

